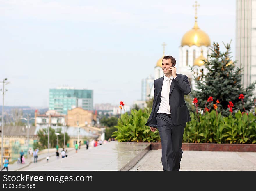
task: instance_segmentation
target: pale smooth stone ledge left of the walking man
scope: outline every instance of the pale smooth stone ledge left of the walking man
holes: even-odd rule
[[[131,164],[134,158],[145,152],[150,143],[120,143],[110,141],[92,149],[61,158],[29,170],[120,170]],[[143,156],[143,155],[141,155]],[[138,160],[141,157],[138,158]],[[136,162],[138,161],[136,160]],[[134,162],[134,164],[136,164]],[[134,166],[131,165],[132,166]]]

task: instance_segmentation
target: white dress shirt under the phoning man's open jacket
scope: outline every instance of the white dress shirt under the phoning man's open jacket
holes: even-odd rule
[[[177,77],[177,76],[176,76]],[[175,77],[175,78],[176,78]],[[174,78],[174,79],[175,79]],[[168,81],[168,77],[166,77],[166,75],[164,75],[163,78],[163,86],[162,86],[162,92],[161,92],[161,101],[160,101],[160,106],[159,109],[157,111],[157,113],[167,113],[167,114],[171,114],[170,111],[168,111],[167,109],[167,104],[169,104],[169,96],[167,97],[167,81]],[[170,84],[172,84],[173,81],[173,76],[170,77]],[[169,90],[170,91],[170,90]]]

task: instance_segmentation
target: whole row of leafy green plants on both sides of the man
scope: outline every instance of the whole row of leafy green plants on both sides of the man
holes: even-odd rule
[[[151,132],[145,126],[150,111],[131,110],[131,114],[122,114],[118,119],[117,131],[112,133],[118,142],[160,142],[159,132]],[[256,117],[253,113],[242,114],[238,111],[228,117],[212,110],[203,115],[190,113],[191,121],[187,122],[183,142],[187,143],[256,143]]]

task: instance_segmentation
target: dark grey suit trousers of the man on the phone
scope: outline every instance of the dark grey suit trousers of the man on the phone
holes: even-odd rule
[[[186,123],[176,126],[171,117],[163,113],[158,113],[156,119],[162,145],[163,170],[178,171],[183,153],[181,147]]]

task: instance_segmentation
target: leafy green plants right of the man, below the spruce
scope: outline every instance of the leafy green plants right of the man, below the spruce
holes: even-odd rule
[[[187,123],[183,141],[188,143],[256,143],[256,117],[253,113],[223,117],[215,110],[204,115],[190,114],[191,121]]]

